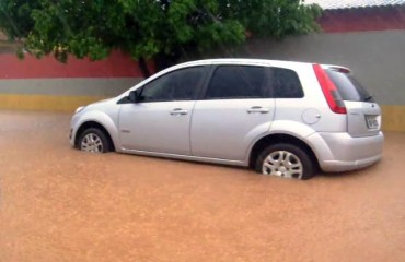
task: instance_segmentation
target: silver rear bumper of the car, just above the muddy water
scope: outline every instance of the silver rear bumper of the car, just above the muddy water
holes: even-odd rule
[[[323,171],[348,171],[370,166],[382,158],[384,135],[352,138],[348,133],[321,133],[324,148],[319,157]]]

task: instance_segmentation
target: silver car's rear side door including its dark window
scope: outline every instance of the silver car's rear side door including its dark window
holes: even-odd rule
[[[218,66],[205,97],[194,107],[194,156],[244,160],[256,138],[269,130],[275,99],[268,85],[269,68]]]

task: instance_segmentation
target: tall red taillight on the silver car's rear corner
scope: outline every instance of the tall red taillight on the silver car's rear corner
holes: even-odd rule
[[[347,111],[345,103],[343,102],[339,92],[329,76],[326,74],[325,70],[317,63],[313,64],[313,69],[331,110],[336,114],[346,114]]]

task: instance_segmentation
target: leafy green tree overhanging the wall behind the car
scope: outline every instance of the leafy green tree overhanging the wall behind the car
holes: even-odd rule
[[[164,68],[189,50],[243,44],[246,32],[309,33],[320,13],[301,0],[1,0],[0,29],[38,58],[99,60],[118,49],[148,76],[146,59]]]

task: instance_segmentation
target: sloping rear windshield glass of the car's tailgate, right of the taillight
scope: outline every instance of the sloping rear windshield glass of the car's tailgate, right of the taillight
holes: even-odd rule
[[[336,85],[344,100],[351,102],[374,102],[362,86],[352,75],[338,72],[333,69],[326,69],[326,73]]]

